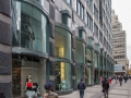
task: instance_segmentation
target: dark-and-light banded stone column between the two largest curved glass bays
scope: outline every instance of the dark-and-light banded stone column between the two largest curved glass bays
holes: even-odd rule
[[[55,85],[55,2],[49,0],[49,79]],[[47,72],[48,72],[47,71]],[[55,88],[53,88],[55,89]]]

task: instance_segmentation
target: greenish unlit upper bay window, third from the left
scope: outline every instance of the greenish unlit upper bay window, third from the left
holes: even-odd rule
[[[84,63],[84,54],[85,54],[85,44],[80,40],[75,40],[75,62]]]

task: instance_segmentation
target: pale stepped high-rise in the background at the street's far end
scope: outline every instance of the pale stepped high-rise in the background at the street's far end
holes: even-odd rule
[[[116,75],[124,75],[127,73],[126,30],[122,30],[122,24],[119,22],[115,11],[112,11],[112,56]]]

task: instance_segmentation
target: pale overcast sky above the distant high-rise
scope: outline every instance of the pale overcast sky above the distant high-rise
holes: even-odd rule
[[[112,10],[122,23],[122,29],[127,33],[127,57],[131,64],[131,0],[111,0],[111,3]]]

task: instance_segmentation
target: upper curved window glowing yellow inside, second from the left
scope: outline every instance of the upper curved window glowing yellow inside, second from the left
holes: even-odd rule
[[[71,34],[56,26],[55,56],[57,58],[71,59]]]

